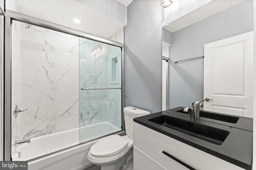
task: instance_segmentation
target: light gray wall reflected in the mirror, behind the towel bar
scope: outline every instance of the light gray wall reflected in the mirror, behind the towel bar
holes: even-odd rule
[[[170,108],[203,99],[203,59],[174,61],[204,55],[204,44],[253,31],[253,0],[246,0],[172,33],[170,48]]]

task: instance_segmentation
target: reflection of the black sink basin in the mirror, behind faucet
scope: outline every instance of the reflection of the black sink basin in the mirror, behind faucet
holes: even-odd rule
[[[182,110],[178,110],[180,113],[186,113],[187,112]],[[234,116],[228,116],[228,115],[221,115],[221,114],[216,114],[216,113],[210,113],[207,111],[200,111],[200,117],[206,117],[210,119],[215,119],[215,120],[220,120],[220,121],[226,121],[229,123],[237,123],[239,117],[234,117]]]

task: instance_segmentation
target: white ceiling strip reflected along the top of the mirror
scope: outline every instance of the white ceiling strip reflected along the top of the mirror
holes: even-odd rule
[[[164,28],[173,33],[244,1],[245,0],[213,0],[177,20],[172,21],[169,25],[165,25]]]

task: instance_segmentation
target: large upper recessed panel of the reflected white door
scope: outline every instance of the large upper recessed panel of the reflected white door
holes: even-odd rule
[[[244,96],[245,43],[242,41],[212,49],[213,94]],[[230,76],[230,74],[234,76]]]

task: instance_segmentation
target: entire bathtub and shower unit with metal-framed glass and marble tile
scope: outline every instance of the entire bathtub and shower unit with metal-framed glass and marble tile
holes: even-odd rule
[[[84,169],[124,133],[124,44],[6,10],[4,160]]]

